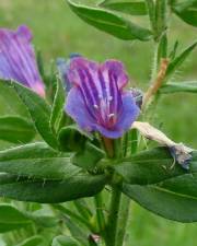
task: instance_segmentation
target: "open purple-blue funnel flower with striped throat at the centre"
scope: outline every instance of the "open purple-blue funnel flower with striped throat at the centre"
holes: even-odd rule
[[[106,138],[119,138],[138,117],[140,109],[129,91],[123,63],[104,63],[73,58],[67,77],[73,84],[66,112],[86,131],[100,131]]]

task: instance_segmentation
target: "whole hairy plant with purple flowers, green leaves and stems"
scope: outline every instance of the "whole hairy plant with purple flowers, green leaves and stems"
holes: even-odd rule
[[[130,246],[125,237],[130,200],[170,220],[197,221],[196,151],[148,122],[162,94],[197,92],[196,82],[172,82],[197,43],[181,54],[177,42],[172,50],[167,44],[172,14],[197,26],[197,2],[68,3],[86,23],[119,39],[152,40],[150,85],[142,93],[132,87],[123,62],[79,54],[58,58],[48,73],[28,27],[1,28],[0,93],[28,114],[0,117],[5,129],[0,139],[16,144],[0,151],[0,196],[26,201],[0,204],[7,222],[0,232],[23,227],[22,234],[4,237],[11,245]],[[140,26],[132,15],[147,16],[150,25]],[[151,141],[159,147],[147,144]],[[47,238],[46,227],[55,227]]]

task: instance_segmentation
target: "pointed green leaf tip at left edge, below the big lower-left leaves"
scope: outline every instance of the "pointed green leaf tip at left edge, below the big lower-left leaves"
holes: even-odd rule
[[[32,222],[21,211],[10,204],[0,204],[0,233],[18,230]]]

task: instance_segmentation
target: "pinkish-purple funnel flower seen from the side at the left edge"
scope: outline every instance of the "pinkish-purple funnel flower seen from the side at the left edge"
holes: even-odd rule
[[[18,81],[45,96],[31,40],[24,25],[16,31],[0,28],[0,79]]]

